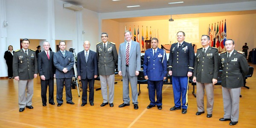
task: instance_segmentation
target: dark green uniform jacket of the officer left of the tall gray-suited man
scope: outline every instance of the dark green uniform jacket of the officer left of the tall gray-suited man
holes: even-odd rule
[[[96,55],[99,61],[99,75],[115,74],[115,65],[118,58],[115,43],[108,42],[106,51],[104,51],[103,42],[96,44]]]

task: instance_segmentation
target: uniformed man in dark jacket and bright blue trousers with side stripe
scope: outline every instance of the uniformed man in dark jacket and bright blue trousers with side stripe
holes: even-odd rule
[[[182,108],[181,113],[186,114],[188,108],[188,79],[192,76],[195,62],[195,52],[192,44],[184,41],[185,33],[177,32],[177,43],[172,44],[169,54],[169,75],[172,76],[172,89],[174,103],[170,110]],[[182,98],[182,105],[180,102]]]

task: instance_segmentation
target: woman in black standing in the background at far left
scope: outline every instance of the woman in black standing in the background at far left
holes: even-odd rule
[[[8,67],[8,77],[9,79],[14,78],[12,72],[12,58],[13,58],[13,47],[12,45],[8,46],[8,50],[4,53],[4,59],[6,60],[6,64]]]

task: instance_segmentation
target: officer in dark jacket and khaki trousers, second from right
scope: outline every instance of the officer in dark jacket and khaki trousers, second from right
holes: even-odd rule
[[[200,48],[196,52],[193,82],[196,82],[196,101],[198,112],[195,115],[204,113],[204,89],[207,96],[207,117],[212,117],[214,84],[217,83],[219,71],[218,49],[210,47],[210,37],[202,35]]]

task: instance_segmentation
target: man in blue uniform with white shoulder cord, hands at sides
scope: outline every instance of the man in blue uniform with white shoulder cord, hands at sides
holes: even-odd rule
[[[164,49],[159,49],[158,39],[152,38],[151,49],[145,51],[143,73],[144,78],[148,80],[148,95],[150,104],[147,108],[153,108],[157,105],[157,109],[162,109],[162,89],[163,80],[167,76],[167,59]],[[157,101],[155,94],[157,93]]]

